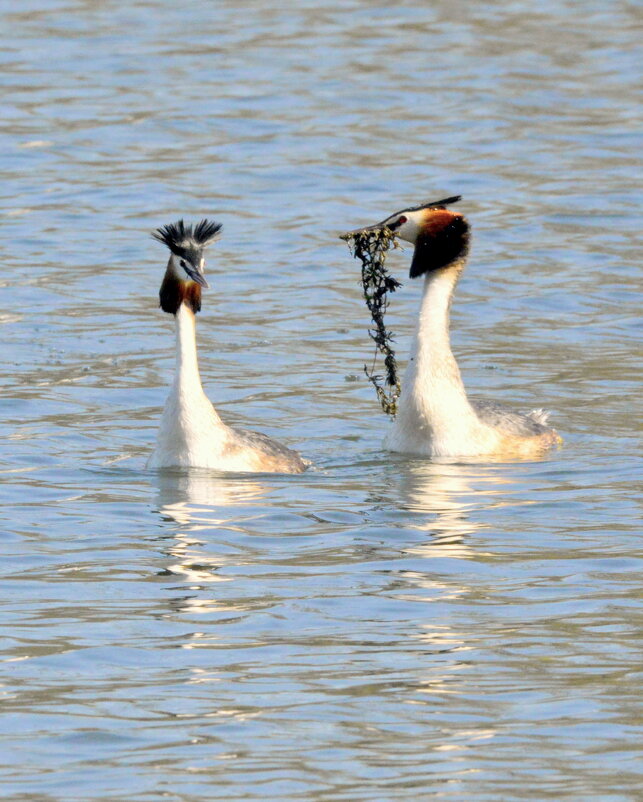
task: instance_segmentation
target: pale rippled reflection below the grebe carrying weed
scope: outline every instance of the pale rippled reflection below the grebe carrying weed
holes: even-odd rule
[[[408,511],[408,545],[389,594],[418,605],[408,637],[410,650],[423,655],[422,670],[407,689],[407,702],[426,706],[434,715],[446,706],[455,710],[468,704],[460,700],[466,699],[470,653],[479,648],[479,636],[455,611],[475,595],[470,581],[475,564],[494,556],[476,537],[486,527],[480,513],[510,503],[506,494],[512,492],[515,474],[507,465],[447,460],[404,461],[395,467],[400,503]],[[413,533],[420,536],[414,539]],[[486,540],[492,542],[491,533]],[[453,560],[469,566],[454,566]],[[495,735],[492,728],[452,730],[434,748],[459,761],[469,744]]]

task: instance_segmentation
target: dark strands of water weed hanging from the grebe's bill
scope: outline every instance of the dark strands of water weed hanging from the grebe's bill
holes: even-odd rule
[[[395,417],[397,412],[397,399],[400,396],[400,380],[397,375],[397,362],[395,351],[392,348],[393,335],[384,325],[384,314],[388,308],[388,294],[395,292],[401,286],[385,267],[386,252],[391,247],[397,247],[395,234],[386,226],[365,231],[351,231],[342,234],[341,239],[348,243],[348,247],[355,259],[362,263],[362,289],[364,300],[368,307],[374,328],[368,330],[370,338],[375,343],[375,358],[369,370],[364,365],[364,373],[375,387],[375,392],[387,415]],[[377,352],[384,356],[386,376],[374,373]]]

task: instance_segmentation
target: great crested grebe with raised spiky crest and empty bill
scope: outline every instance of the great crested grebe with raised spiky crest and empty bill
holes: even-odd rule
[[[208,286],[203,253],[220,230],[221,224],[210,220],[201,220],[194,230],[179,220],[152,234],[170,249],[159,297],[163,311],[176,321],[176,376],[147,467],[301,473],[307,466],[299,454],[264,434],[226,426],[203,392],[195,315],[201,288]]]

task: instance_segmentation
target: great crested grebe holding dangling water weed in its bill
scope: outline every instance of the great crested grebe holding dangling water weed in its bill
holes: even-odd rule
[[[467,398],[449,341],[449,309],[467,261],[469,224],[445,198],[402,209],[354,233],[388,228],[415,246],[410,277],[424,276],[417,329],[393,427],[390,451],[427,457],[529,457],[561,442],[547,413],[527,415]]]

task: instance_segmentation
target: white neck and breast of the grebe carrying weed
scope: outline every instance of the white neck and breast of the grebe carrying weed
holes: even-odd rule
[[[397,439],[411,443],[420,438],[430,453],[442,451],[440,444],[447,441],[449,449],[457,448],[455,441],[479,427],[449,339],[451,297],[462,267],[457,263],[426,275],[395,420]]]

